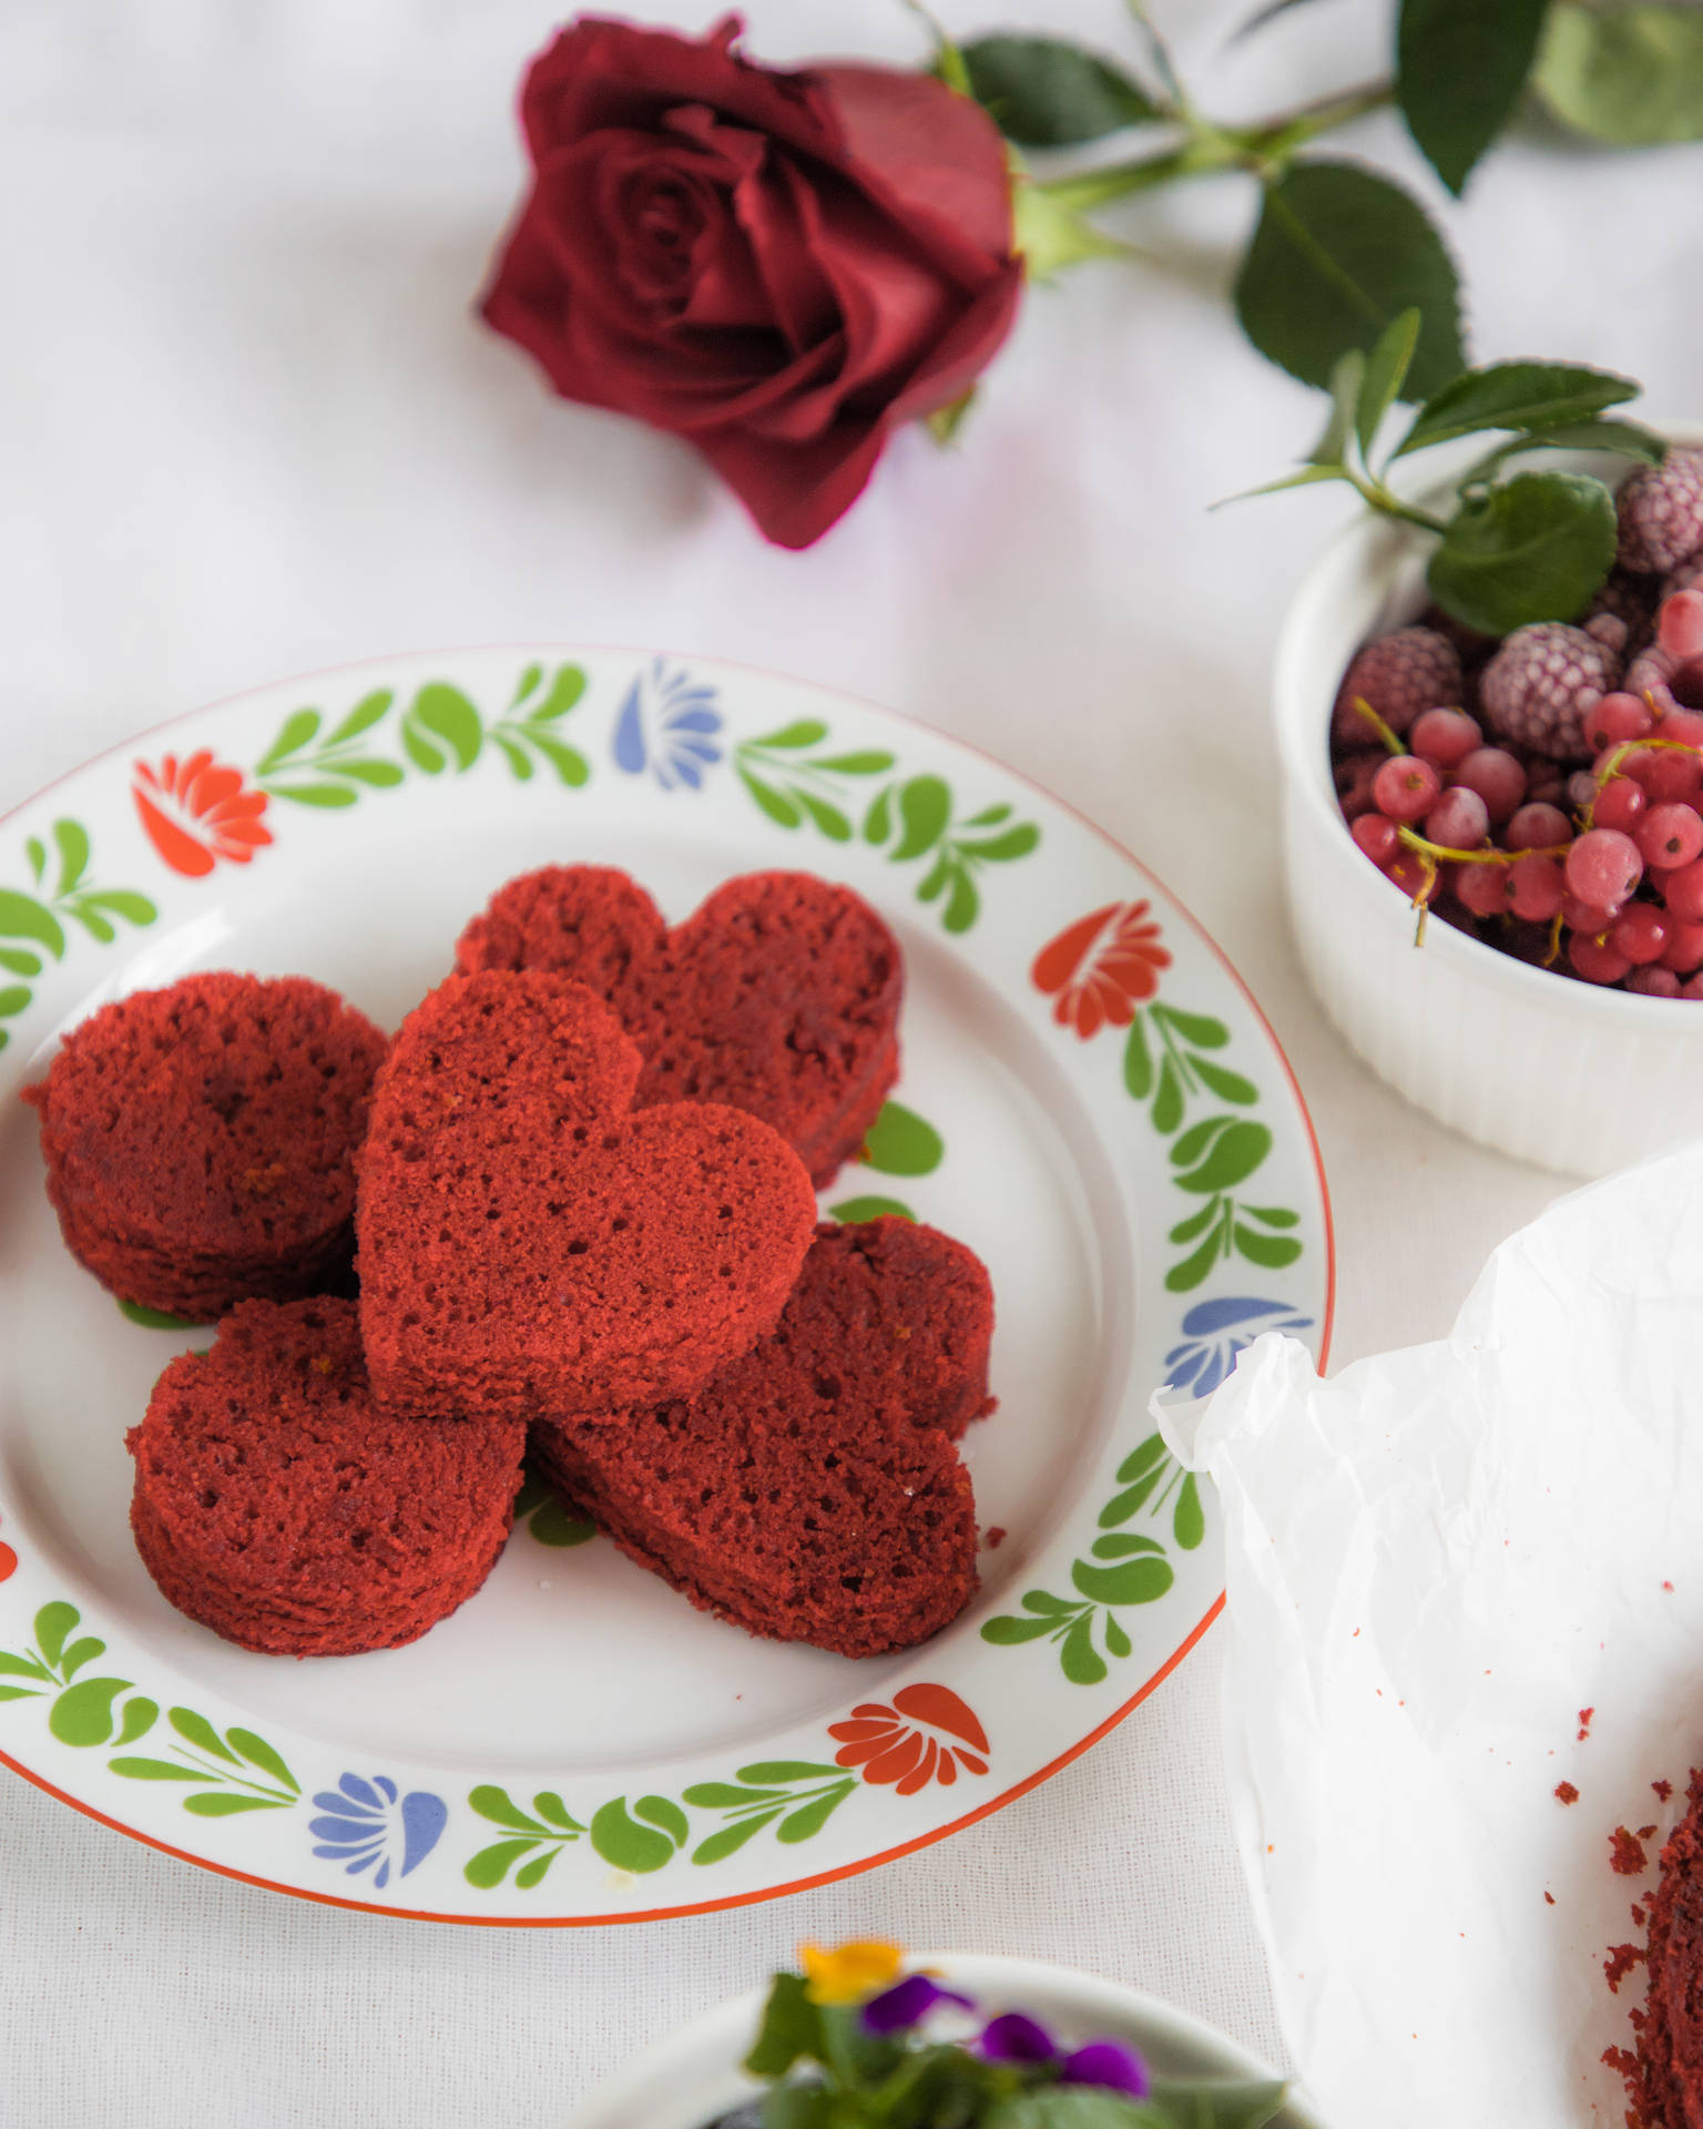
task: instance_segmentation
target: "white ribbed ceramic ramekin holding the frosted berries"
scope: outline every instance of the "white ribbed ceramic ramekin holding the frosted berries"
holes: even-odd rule
[[[1663,430],[1703,439],[1697,424]],[[1575,984],[1435,920],[1416,947],[1411,907],[1337,807],[1330,705],[1358,645],[1424,605],[1428,551],[1422,534],[1367,517],[1322,556],[1284,624],[1277,749],[1301,958],[1337,1028],[1420,1109],[1516,1160],[1607,1175],[1703,1128],[1703,1005]]]

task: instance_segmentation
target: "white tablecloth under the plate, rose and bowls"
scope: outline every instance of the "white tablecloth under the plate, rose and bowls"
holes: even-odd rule
[[[1128,49],[1118,0],[939,4],[958,30]],[[1247,4],[1162,9],[1226,115],[1382,70],[1384,0],[1226,51]],[[711,6],[630,13],[696,30]],[[920,51],[898,0],[747,13],[764,57]],[[1037,292],[962,449],[903,439],[852,519],[786,556],[690,451],[547,398],[468,317],[522,181],[513,83],[553,19],[551,0],[4,0],[0,807],[177,709],[428,645],[658,643],[892,703],[1094,813],[1254,984],[1335,1186],[1337,1358],[1441,1333],[1558,1184],[1377,1086],[1288,943],[1264,675],[1343,507],[1205,515],[1318,422],[1226,307],[1247,187],[1128,209],[1156,260]],[[1343,147],[1437,200],[1392,119]],[[1443,207],[1479,351],[1618,364],[1658,409],[1703,411],[1699,170],[1541,134],[1497,153]],[[1094,1967],[1279,2057],[1216,1688],[1209,1635],[1122,1731],[943,1848],[605,1933],[292,1903],[0,1773],[0,2118],[545,2129],[645,2033],[800,1935],[856,1929]]]

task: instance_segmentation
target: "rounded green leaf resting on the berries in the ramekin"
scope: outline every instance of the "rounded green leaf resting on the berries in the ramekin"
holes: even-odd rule
[[[1614,496],[1577,473],[1520,473],[1467,496],[1426,583],[1469,628],[1503,637],[1526,622],[1571,622],[1609,573]]]

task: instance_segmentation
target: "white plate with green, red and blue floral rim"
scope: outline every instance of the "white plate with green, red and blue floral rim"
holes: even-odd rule
[[[732,873],[866,894],[905,1071],[826,1194],[962,1237],[998,1301],[966,1460],[981,1595],[924,1648],[756,1641],[549,1503],[411,1648],[251,1656],[130,1544],[123,1433],[211,1333],[66,1256],[15,1099],[64,1028],[192,969],[394,1026],[549,860],[671,918]],[[253,1884],[466,1922],[722,1908],[883,1863],[1101,1737],[1220,1605],[1213,1512],[1145,1416],[1264,1328],[1320,1352],[1330,1220],[1288,1067],[1126,852],[1009,771],[800,681],[636,651],[394,658],[183,717],[0,824],[0,1759]],[[1003,1533],[1003,1535],[994,1535]]]

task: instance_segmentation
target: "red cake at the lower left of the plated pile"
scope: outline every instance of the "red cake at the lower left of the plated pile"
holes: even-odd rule
[[[353,1301],[243,1301],[132,1426],[130,1526],[179,1612],[260,1654],[400,1648],[509,1535],[526,1431],[373,1407]]]

